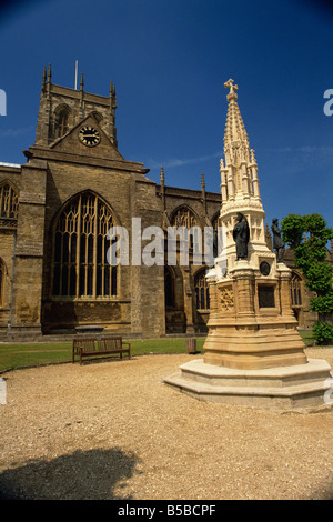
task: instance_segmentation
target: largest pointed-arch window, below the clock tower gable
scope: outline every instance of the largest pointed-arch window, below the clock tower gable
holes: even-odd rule
[[[107,258],[114,224],[109,208],[91,192],[68,203],[54,230],[53,295],[117,295],[117,267]]]

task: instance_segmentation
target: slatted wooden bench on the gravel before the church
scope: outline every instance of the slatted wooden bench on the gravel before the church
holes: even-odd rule
[[[120,359],[123,355],[128,355],[130,358],[131,344],[123,342],[121,335],[105,335],[101,338],[77,337],[73,339],[73,363],[75,362],[75,357],[80,358],[80,364],[82,364],[83,358],[93,359],[98,355],[119,355]],[[103,358],[100,357],[100,359]]]

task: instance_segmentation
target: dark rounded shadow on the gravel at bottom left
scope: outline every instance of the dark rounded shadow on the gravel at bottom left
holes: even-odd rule
[[[119,448],[31,460],[0,473],[0,500],[131,500],[114,489],[133,475],[138,462]]]

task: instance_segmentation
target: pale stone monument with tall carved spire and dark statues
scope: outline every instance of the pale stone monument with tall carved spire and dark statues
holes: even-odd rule
[[[274,410],[322,408],[331,367],[304,352],[278,220],[272,229],[276,253],[266,245],[258,164],[238,86],[229,80],[224,87],[230,92],[219,224],[225,244],[206,273],[211,308],[204,355],[182,364],[164,382],[205,401]]]

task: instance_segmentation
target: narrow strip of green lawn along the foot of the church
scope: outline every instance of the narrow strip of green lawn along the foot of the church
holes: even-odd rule
[[[300,333],[305,344],[313,342],[311,331]],[[202,347],[204,340],[204,337],[196,338],[196,350],[199,352],[203,352]],[[147,353],[186,353],[188,351],[185,338],[135,339],[130,342],[132,355],[142,355]],[[0,371],[12,368],[51,364],[71,360],[71,342],[20,344],[0,343]]]

